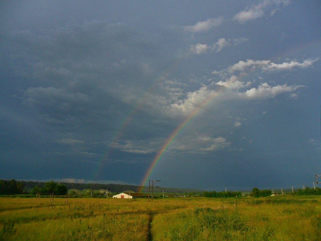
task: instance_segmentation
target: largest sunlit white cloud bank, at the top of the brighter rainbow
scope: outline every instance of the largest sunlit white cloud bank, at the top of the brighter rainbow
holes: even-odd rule
[[[257,86],[252,86],[255,81],[253,83],[251,81],[242,81],[243,77],[256,68],[261,69],[268,75],[271,71],[285,71],[295,67],[307,68],[312,66],[316,60],[307,59],[302,63],[293,60],[281,64],[273,63],[271,60],[248,59],[239,61],[227,69],[213,71],[212,73],[217,74],[221,80],[213,81],[210,85],[203,85],[195,91],[184,92],[181,88],[171,86],[177,85],[178,82],[167,82],[166,85],[160,85],[163,89],[162,93],[150,95],[149,100],[146,102],[151,103],[153,107],[158,106],[159,114],[161,115],[181,118],[190,116],[201,108],[204,103],[214,98],[219,98],[222,93],[225,93],[225,98],[230,95],[231,98],[266,99],[282,93],[290,93],[291,97],[297,98],[298,95],[293,92],[298,88],[304,87],[303,85],[283,84],[273,86],[268,83],[261,83]],[[240,73],[236,75],[237,72]],[[239,123],[235,123],[235,125],[239,126]]]

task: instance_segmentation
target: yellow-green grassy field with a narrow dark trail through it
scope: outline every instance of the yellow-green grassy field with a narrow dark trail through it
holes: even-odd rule
[[[320,240],[320,196],[0,198],[0,240]]]

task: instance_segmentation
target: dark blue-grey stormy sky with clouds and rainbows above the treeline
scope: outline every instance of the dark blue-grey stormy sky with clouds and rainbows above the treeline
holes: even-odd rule
[[[320,9],[1,1],[0,178],[313,187]]]

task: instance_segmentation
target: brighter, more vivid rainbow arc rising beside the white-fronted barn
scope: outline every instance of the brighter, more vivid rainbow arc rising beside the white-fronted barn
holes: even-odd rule
[[[164,154],[164,152],[166,151],[166,149],[169,147],[170,143],[172,143],[172,141],[175,139],[175,137],[178,135],[178,133],[186,126],[186,124],[207,104],[209,103],[214,96],[216,96],[217,93],[212,94],[209,98],[205,99],[197,108],[195,108],[195,110],[193,110],[189,116],[178,125],[178,127],[170,134],[169,138],[167,138],[167,140],[165,141],[164,145],[160,148],[160,151],[157,153],[157,155],[155,156],[152,164],[149,166],[142,183],[140,184],[140,189],[139,192],[142,192],[145,184],[149,178],[149,176],[152,174],[153,169],[155,168],[156,164],[158,163],[158,161],[160,160],[160,158],[162,157],[162,155]]]

